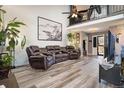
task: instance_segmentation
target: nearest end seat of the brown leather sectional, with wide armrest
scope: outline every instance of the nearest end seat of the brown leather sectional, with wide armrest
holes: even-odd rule
[[[38,46],[27,47],[26,52],[32,68],[46,70],[55,63],[53,55],[49,53],[42,54]]]

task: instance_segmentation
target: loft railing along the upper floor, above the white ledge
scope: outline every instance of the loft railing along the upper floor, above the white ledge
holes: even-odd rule
[[[80,13],[82,19],[69,19],[69,26],[124,13],[124,5],[101,5],[100,7],[101,14],[98,14],[95,9],[90,17],[88,16],[89,11]]]

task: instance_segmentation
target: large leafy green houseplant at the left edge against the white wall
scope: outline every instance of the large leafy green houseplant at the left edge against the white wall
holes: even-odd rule
[[[5,10],[0,9],[3,15],[6,13]],[[10,20],[7,24],[4,24],[2,16],[0,15],[0,46],[1,46],[1,55],[0,55],[0,74],[4,74],[10,68],[13,60],[12,52],[15,50],[15,47],[18,45],[19,41],[19,28],[25,25],[23,22],[17,21],[17,18]],[[26,37],[21,41],[21,47],[24,48],[26,43]],[[4,48],[6,51],[4,51]],[[7,54],[3,54],[7,52]],[[2,72],[1,72],[2,71]],[[4,71],[4,72],[3,72]]]

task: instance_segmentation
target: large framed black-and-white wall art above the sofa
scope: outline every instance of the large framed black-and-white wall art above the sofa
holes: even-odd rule
[[[38,16],[38,40],[62,41],[62,24]]]

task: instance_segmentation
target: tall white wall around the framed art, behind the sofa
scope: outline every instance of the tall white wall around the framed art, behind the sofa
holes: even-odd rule
[[[62,12],[69,11],[69,6],[13,6],[5,5],[3,9],[7,11],[5,16],[5,22],[14,17],[17,17],[20,21],[23,21],[27,26],[21,28],[21,34],[26,35],[27,43],[29,45],[38,45],[39,47],[45,47],[46,45],[66,45],[66,27],[68,25],[68,15],[62,14]],[[37,17],[45,17],[62,23],[62,41],[39,41],[37,39]],[[16,66],[28,64],[27,55],[25,49],[22,50],[19,46],[16,47]]]

